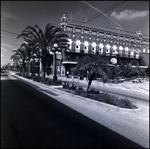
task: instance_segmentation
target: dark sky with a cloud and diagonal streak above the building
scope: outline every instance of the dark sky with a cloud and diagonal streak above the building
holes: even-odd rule
[[[116,3],[117,7],[110,7]],[[149,35],[149,1],[1,1],[1,64],[10,61],[12,50],[22,42],[4,31],[19,34],[28,25],[57,25],[63,14],[84,21],[106,8],[110,10],[90,23]]]

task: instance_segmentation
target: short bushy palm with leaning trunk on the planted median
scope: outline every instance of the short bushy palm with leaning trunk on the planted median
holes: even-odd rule
[[[96,75],[101,76],[106,80],[108,78],[107,73],[107,64],[109,63],[109,59],[107,57],[102,57],[100,55],[88,55],[79,59],[78,64],[75,68],[75,71],[80,73],[85,73],[87,70],[89,71],[89,82],[87,86],[87,91],[92,83],[92,80]]]

